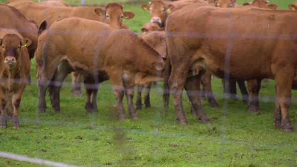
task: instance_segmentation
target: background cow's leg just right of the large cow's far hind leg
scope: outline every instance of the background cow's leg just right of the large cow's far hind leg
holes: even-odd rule
[[[206,71],[201,74],[201,83],[205,89],[203,92],[206,93],[208,103],[211,105],[211,107],[217,107],[217,103],[214,99],[211,89],[211,74],[209,72]]]

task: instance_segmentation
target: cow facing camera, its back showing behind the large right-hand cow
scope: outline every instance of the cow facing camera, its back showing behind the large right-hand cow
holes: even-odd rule
[[[142,4],[141,9],[144,11],[150,11],[151,23],[157,23],[160,27],[165,27],[165,21],[168,15],[178,8],[182,8],[186,5],[199,3],[203,6],[210,6],[203,0],[183,0],[174,2],[163,2],[161,0],[153,0],[149,5]]]

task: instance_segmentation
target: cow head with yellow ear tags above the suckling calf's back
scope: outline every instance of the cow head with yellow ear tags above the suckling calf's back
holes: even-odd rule
[[[132,19],[134,14],[132,12],[123,12],[123,5],[118,3],[109,3],[105,9],[96,8],[94,13],[104,17],[104,23],[121,28],[123,19]]]

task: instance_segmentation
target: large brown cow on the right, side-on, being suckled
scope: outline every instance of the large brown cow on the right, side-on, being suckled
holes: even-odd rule
[[[294,28],[297,27],[296,18],[297,13],[293,11],[258,8],[191,6],[172,13],[166,27],[172,69],[170,78],[165,77],[165,86],[169,84],[173,91],[178,121],[188,124],[182,108],[181,92],[184,86],[187,88],[192,82],[186,78],[188,70],[199,68],[208,69],[222,78],[229,75],[230,79],[238,80],[274,79],[278,108],[274,113],[274,125],[292,132],[288,107],[291,89],[297,88],[297,47],[295,36],[292,36],[297,34]],[[253,24],[245,27],[246,23]],[[165,96],[165,100],[167,98]],[[191,101],[201,106],[198,98]]]

